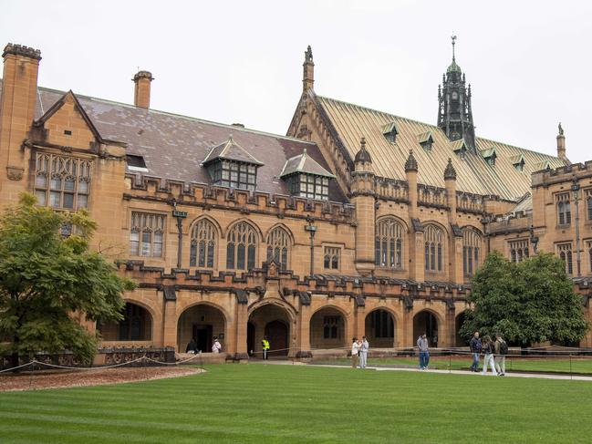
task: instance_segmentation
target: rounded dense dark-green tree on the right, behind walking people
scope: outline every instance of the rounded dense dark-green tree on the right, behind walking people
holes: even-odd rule
[[[566,275],[565,263],[551,253],[539,253],[511,263],[493,252],[474,275],[461,336],[474,331],[523,346],[537,342],[572,343],[587,332],[582,298]]]

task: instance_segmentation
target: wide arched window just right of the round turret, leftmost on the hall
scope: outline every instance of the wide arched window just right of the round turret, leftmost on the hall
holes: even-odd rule
[[[374,243],[376,265],[403,268],[403,232],[403,226],[392,218],[379,221]]]

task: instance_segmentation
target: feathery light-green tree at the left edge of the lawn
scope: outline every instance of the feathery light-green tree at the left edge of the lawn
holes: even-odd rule
[[[65,228],[72,233],[62,235]],[[19,355],[69,350],[92,362],[98,336],[74,318],[120,320],[121,294],[135,284],[115,265],[89,251],[96,223],[85,211],[55,212],[22,194],[0,217],[0,338],[3,353]]]

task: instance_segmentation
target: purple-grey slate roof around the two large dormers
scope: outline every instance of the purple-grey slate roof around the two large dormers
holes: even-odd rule
[[[0,80],[0,91],[2,90]],[[38,88],[36,119],[39,119],[65,94],[55,89]],[[289,195],[285,181],[278,178],[286,160],[307,154],[330,171],[317,145],[305,140],[269,134],[253,129],[179,116],[154,109],[100,98],[77,95],[78,101],[103,139],[119,140],[127,153],[141,156],[148,169],[144,174],[164,180],[187,183],[212,183],[201,165],[212,147],[232,134],[254,159],[264,160],[257,171],[257,191]],[[136,171],[129,170],[130,173]],[[347,201],[337,181],[329,181],[329,200]]]

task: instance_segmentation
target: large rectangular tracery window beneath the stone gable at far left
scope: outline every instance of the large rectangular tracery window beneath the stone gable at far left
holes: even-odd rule
[[[39,205],[61,210],[88,208],[92,160],[37,153],[35,195]]]

